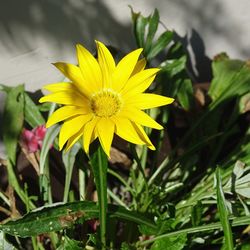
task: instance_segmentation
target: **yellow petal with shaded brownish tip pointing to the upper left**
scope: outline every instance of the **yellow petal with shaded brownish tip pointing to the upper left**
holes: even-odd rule
[[[79,67],[63,62],[57,62],[54,63],[54,65],[73,82],[73,84],[79,91],[81,91],[81,93],[86,96],[90,96],[93,93],[94,90],[91,88],[91,86],[88,86],[87,82],[84,80]]]

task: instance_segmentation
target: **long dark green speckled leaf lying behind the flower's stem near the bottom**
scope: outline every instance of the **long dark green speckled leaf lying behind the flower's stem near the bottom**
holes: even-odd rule
[[[137,212],[128,211],[117,205],[108,205],[107,215],[125,221],[144,224],[156,228],[153,220]],[[22,218],[0,224],[0,230],[20,237],[35,236],[43,233],[60,231],[72,227],[75,223],[98,218],[99,209],[95,202],[80,201],[66,204],[53,204],[36,209]]]

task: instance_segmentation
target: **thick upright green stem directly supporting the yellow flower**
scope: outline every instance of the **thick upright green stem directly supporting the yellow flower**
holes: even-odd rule
[[[106,224],[107,224],[107,155],[101,148],[92,155],[91,166],[95,178],[100,218],[101,249],[106,249]]]

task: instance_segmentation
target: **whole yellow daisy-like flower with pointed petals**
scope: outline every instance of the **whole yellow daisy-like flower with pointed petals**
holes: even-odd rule
[[[154,150],[142,126],[162,129],[142,110],[170,104],[172,98],[143,93],[154,80],[157,68],[144,69],[145,59],[138,60],[142,49],[126,55],[116,65],[101,42],[96,41],[98,59],[82,45],[76,46],[79,66],[58,62],[54,65],[69,82],[45,86],[52,92],[40,102],[55,102],[64,106],[56,110],[46,127],[64,121],[59,134],[60,150],[66,150],[82,138],[86,153],[97,137],[109,156],[114,134]]]

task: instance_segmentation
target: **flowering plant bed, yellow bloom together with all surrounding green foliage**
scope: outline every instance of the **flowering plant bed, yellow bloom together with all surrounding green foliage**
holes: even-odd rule
[[[132,17],[138,49],[78,44],[40,104],[0,85],[3,249],[249,247],[249,62],[197,83],[158,11]]]

